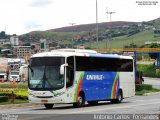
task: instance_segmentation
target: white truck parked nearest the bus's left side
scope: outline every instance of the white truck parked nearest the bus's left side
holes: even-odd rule
[[[11,82],[12,81],[20,82],[19,71],[11,71],[9,74],[9,80]]]

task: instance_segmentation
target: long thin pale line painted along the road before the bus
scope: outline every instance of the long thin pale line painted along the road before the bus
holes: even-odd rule
[[[95,109],[95,110],[83,110],[83,111],[78,111],[78,112],[70,112],[70,113],[67,113],[67,114],[91,113],[91,112],[98,112],[98,111],[104,111],[104,110],[131,108],[131,107],[136,107],[136,106],[159,104],[159,103],[160,103],[160,101],[159,102],[154,102],[154,103],[148,103],[148,104],[145,103],[145,104],[137,104],[137,105],[126,105],[126,106],[119,106],[119,107],[100,108],[100,109]]]

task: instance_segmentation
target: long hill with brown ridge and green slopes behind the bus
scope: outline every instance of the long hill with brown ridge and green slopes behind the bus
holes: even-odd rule
[[[98,44],[95,23],[33,31],[19,37],[26,43],[46,38],[51,47],[123,48],[130,44],[141,47],[146,41],[160,41],[160,18],[147,22],[103,22],[98,23],[98,30]]]

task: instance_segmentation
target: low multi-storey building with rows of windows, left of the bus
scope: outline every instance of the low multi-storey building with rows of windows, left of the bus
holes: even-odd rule
[[[17,58],[31,56],[31,46],[14,46],[14,54],[17,55]]]

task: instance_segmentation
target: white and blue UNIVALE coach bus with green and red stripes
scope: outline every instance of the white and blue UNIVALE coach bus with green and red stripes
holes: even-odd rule
[[[135,95],[134,60],[130,56],[94,50],[57,49],[31,56],[28,65],[29,102],[46,109],[67,103],[74,107],[121,103]]]

